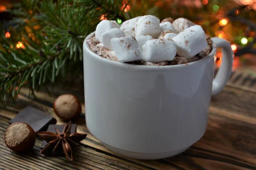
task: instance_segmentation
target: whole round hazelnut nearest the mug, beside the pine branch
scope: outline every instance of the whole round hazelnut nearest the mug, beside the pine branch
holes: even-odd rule
[[[53,104],[53,110],[63,120],[73,119],[81,113],[81,104],[76,96],[63,94]]]

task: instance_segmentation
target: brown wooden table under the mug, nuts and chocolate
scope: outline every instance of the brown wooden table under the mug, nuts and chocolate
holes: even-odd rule
[[[83,96],[83,82],[76,82],[72,93]],[[68,92],[67,92],[68,91]],[[12,119],[27,105],[53,115],[52,103],[60,94],[70,89],[57,87],[49,96],[46,91],[36,93],[37,100],[29,99],[29,90],[23,88],[17,97],[17,107],[0,109],[0,169],[4,170],[256,170],[256,74],[233,72],[224,90],[212,97],[209,120],[205,135],[185,152],[167,159],[135,160],[111,152],[87,129],[82,115],[78,119],[79,133],[87,133],[73,154],[74,161],[64,157],[41,155],[41,140],[37,139],[34,152],[14,153],[4,144],[3,135]],[[64,124],[58,117],[57,124]]]

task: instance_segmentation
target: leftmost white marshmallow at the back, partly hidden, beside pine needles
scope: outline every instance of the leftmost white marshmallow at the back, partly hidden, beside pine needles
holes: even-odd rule
[[[95,37],[99,40],[99,42],[102,42],[102,34],[112,28],[119,28],[119,26],[116,26],[116,24],[109,20],[102,20],[96,27]]]

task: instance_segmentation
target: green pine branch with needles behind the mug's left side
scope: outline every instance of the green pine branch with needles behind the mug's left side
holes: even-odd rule
[[[25,85],[34,91],[65,79],[74,66],[81,68],[77,65],[82,65],[84,38],[102,14],[124,20],[122,5],[122,0],[76,0],[72,5],[69,0],[15,3],[15,18],[4,25],[0,37],[1,104],[14,101]],[[6,28],[9,38],[4,36]]]

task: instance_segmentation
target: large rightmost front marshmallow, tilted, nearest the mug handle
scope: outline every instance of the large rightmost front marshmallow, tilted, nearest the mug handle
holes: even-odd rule
[[[177,54],[180,57],[192,58],[206,48],[207,40],[198,30],[188,28],[172,38],[176,43]]]

